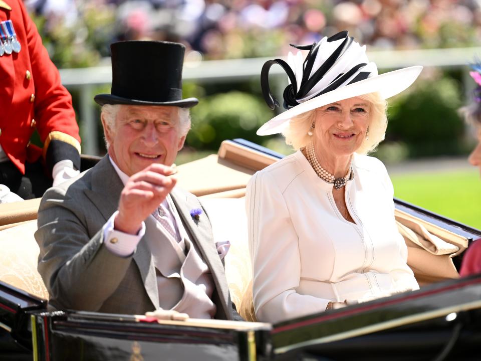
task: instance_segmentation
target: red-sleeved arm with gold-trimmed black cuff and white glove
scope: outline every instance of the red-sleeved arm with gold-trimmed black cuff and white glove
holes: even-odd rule
[[[35,82],[34,114],[44,142],[43,156],[54,186],[79,173],[80,135],[72,97],[61,84],[60,74],[50,60],[42,39],[25,6],[20,2],[27,33],[32,77]]]

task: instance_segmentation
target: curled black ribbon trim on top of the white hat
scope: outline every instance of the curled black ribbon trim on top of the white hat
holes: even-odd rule
[[[312,45],[293,45],[291,44],[292,47],[299,49],[299,50],[309,50],[309,54],[307,55],[306,59],[304,60],[303,63],[303,75],[302,75],[302,80],[301,84],[299,87],[299,91],[297,91],[297,80],[296,80],[296,75],[294,74],[294,71],[292,68],[289,66],[287,62],[285,62],[282,59],[275,59],[275,60],[269,60],[266,63],[264,63],[261,71],[261,89],[262,89],[262,95],[264,97],[264,100],[266,101],[267,105],[274,110],[274,108],[277,106],[279,107],[279,102],[274,96],[272,95],[271,88],[269,86],[269,70],[274,64],[279,64],[284,71],[286,72],[287,76],[289,77],[289,80],[291,84],[289,84],[285,89],[283,93],[283,98],[284,98],[284,108],[289,109],[292,108],[296,105],[299,105],[300,103],[298,102],[298,99],[304,98],[311,90],[312,88],[326,75],[326,73],[331,69],[331,67],[336,63],[336,61],[346,52],[347,49],[351,46],[352,42],[354,41],[353,37],[348,36],[347,31],[342,31],[339,32],[330,38],[327,39],[328,42],[334,42],[337,40],[344,39],[344,41],[337,47],[337,49],[329,56],[329,58],[326,59],[326,61],[319,67],[316,72],[309,77],[309,75],[312,72],[312,68],[314,66],[314,61],[316,60],[320,44],[314,42]],[[347,79],[349,79],[351,76],[353,76],[359,69],[365,67],[367,64],[366,63],[361,63],[347,71],[346,73],[341,73],[339,74],[326,88],[324,88],[322,91],[320,91],[318,94],[316,94],[314,97],[317,97],[319,95],[325,94],[327,92],[330,92],[336,88],[338,88],[341,84],[343,84]],[[370,72],[359,72],[358,75],[352,79],[349,84],[358,82],[360,80],[367,79],[369,77]]]

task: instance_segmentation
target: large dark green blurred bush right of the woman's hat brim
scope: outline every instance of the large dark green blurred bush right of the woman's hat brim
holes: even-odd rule
[[[460,154],[464,124],[458,83],[448,77],[418,81],[390,103],[386,143],[409,157]]]

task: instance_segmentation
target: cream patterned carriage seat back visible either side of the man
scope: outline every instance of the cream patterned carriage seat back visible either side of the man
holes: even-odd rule
[[[252,279],[244,199],[205,198],[202,204],[212,220],[214,240],[231,243],[224,260],[225,272],[232,301],[240,309]],[[48,300],[49,293],[37,271],[40,249],[36,230],[37,220],[32,220],[0,231],[0,281]]]

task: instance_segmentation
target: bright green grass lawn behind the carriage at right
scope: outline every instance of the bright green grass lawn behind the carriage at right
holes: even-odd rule
[[[394,197],[481,229],[479,170],[393,174]]]

